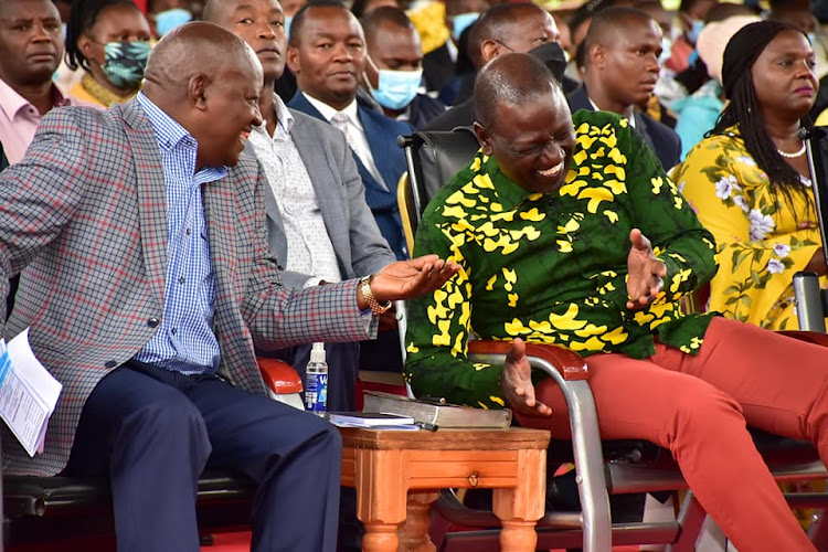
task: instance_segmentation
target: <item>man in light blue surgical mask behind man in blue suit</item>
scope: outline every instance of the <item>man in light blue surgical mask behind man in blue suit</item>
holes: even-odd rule
[[[367,52],[360,102],[415,128],[442,114],[443,103],[420,93],[423,49],[405,12],[390,6],[376,8],[363,17],[362,29]]]

